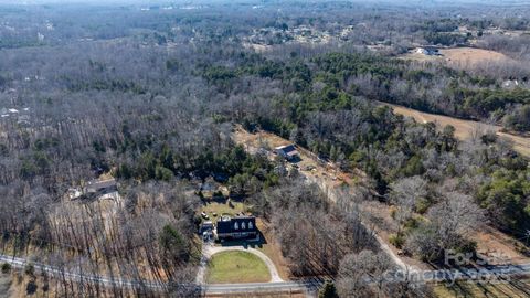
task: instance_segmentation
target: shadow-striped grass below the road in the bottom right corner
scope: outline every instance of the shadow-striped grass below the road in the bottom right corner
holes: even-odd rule
[[[473,297],[473,298],[500,298],[500,297],[530,297],[530,279],[516,279],[509,281],[469,283],[458,281],[455,285],[438,284],[434,292],[439,298]]]

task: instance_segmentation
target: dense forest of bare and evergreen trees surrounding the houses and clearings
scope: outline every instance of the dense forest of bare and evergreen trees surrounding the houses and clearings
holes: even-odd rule
[[[168,294],[197,295],[172,285],[193,283],[201,198],[191,185],[214,177],[272,223],[294,275],[335,276],[343,297],[426,295],[367,288],[353,268],[367,259],[371,273],[392,265],[359,211],[336,207],[316,185],[278,171],[283,162],[247,152],[231,138],[235,125],[364,172],[367,191],[341,203],[392,206],[390,242],[409,257],[442,265],[448,249],[475,252],[470,235],[484,223],[528,235],[526,157],[492,131],[460,140],[452,126],[416,123],[384,103],[524,136],[530,40],[491,32],[529,30],[528,18],[517,17],[529,8],[426,6],[416,14],[377,3],[264,3],[0,6],[2,252],[36,252],[64,270],[169,280]],[[331,38],[296,42],[300,28]],[[417,45],[471,40],[520,63],[457,70],[400,57]],[[119,182],[124,200],[113,220],[92,201],[66,202],[70,189],[102,174]],[[60,280],[57,290],[127,295],[74,284]]]

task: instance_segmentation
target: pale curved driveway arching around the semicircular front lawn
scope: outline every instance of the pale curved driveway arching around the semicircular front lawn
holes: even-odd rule
[[[259,257],[263,263],[268,268],[268,272],[271,273],[271,280],[268,283],[282,283],[284,279],[279,277],[278,270],[276,269],[276,266],[274,266],[273,260],[268,258],[264,253],[259,252],[256,248],[251,248],[251,247],[243,247],[243,246],[213,246],[211,244],[204,243],[202,246],[202,259],[201,259],[201,265],[199,267],[199,272],[197,274],[197,283],[199,285],[204,285],[204,275],[206,272],[206,265],[208,265],[208,259],[211,258],[214,254],[221,253],[221,252],[231,252],[231,251],[241,251],[241,252],[247,252],[251,254],[254,254],[255,256]]]

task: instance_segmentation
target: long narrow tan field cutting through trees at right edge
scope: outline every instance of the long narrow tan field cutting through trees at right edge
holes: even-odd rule
[[[460,140],[471,139],[477,136],[478,132],[495,131],[500,139],[510,142],[516,151],[523,156],[530,157],[530,138],[502,132],[502,127],[500,126],[423,113],[391,104],[384,105],[392,107],[395,114],[414,118],[418,123],[435,123],[441,128],[445,127],[446,125],[452,125],[456,129],[455,136]]]

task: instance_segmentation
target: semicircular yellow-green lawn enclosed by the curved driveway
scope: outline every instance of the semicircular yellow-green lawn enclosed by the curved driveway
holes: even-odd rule
[[[266,283],[271,273],[263,260],[246,252],[221,252],[210,259],[209,284]]]

